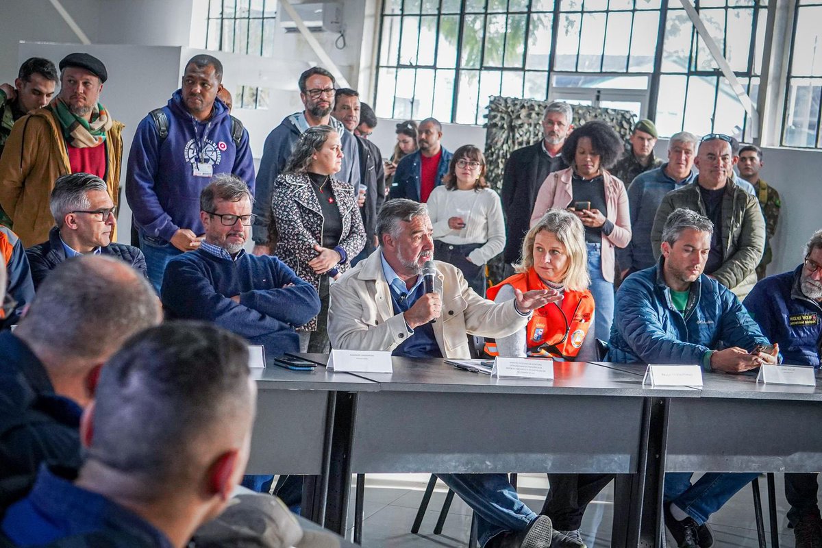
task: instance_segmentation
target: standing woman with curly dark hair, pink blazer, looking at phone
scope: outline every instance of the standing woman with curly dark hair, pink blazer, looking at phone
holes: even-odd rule
[[[551,208],[567,208],[585,227],[590,290],[597,306],[594,333],[611,336],[614,311],[614,248],[630,242],[630,214],[625,185],[607,169],[617,163],[622,140],[605,122],[577,127],[562,146],[570,165],[543,182],[531,213],[531,226]]]

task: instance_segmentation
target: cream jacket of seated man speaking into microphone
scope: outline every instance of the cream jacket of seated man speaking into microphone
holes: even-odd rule
[[[392,351],[413,333],[402,314],[394,314],[382,272],[382,250],[349,270],[330,287],[328,336],[331,348]],[[455,266],[435,261],[435,289],[442,295],[442,315],[433,324],[443,357],[468,359],[466,334],[506,337],[528,325],[514,302],[496,304],[473,292]]]

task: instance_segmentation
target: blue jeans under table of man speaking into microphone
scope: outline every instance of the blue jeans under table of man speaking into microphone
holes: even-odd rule
[[[479,546],[501,532],[520,532],[537,514],[517,496],[506,474],[436,474],[477,517]]]

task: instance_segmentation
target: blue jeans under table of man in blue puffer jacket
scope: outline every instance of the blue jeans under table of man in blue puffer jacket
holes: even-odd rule
[[[693,472],[667,472],[665,474],[666,503],[672,502],[702,525],[711,514],[723,507],[742,487],[759,474],[751,472],[708,472],[695,484],[690,484]]]

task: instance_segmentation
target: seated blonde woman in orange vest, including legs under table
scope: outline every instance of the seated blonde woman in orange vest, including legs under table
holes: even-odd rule
[[[525,329],[486,352],[502,357],[543,356],[568,361],[596,360],[593,297],[588,289],[588,251],[582,222],[568,210],[547,210],[525,235],[518,274],[488,289],[495,302],[514,298],[514,289],[551,288],[561,298],[533,311]],[[580,541],[580,524],[589,502],[611,481],[607,474],[548,474],[551,489],[540,513],[554,529]]]

